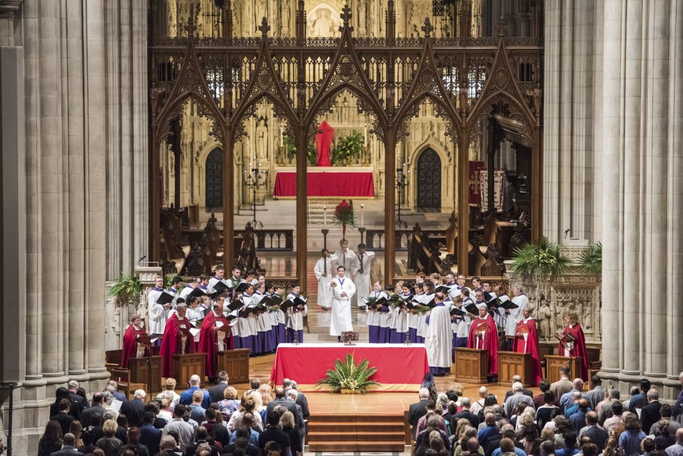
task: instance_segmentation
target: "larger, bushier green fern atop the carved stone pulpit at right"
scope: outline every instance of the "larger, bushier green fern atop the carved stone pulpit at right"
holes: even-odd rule
[[[512,253],[514,271],[521,274],[563,274],[569,271],[571,260],[560,252],[560,246],[543,236],[537,241],[516,248]]]

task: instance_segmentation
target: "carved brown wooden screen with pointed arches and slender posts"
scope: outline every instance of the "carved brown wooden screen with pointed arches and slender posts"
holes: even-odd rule
[[[535,30],[542,30],[542,2]],[[301,153],[296,154],[297,273],[306,276],[306,144],[321,115],[337,96],[350,91],[358,107],[374,118],[371,132],[385,146],[385,245],[394,245],[395,149],[420,105],[429,101],[447,122],[457,157],[459,233],[468,233],[468,144],[480,133],[482,116],[505,116],[515,135],[532,149],[532,237],[542,220],[542,87],[543,38],[506,38],[505,26],[493,38],[438,38],[425,17],[421,38],[397,38],[394,1],[387,2],[386,36],[354,38],[351,13],[342,10],[339,38],[307,38],[304,1],[298,1],[296,36],[271,38],[263,18],[259,38],[234,37],[231,1],[224,2],[220,38],[195,36],[190,8],[185,36],[155,32],[153,2],[149,21],[150,117],[150,256],[159,257],[161,206],[160,144],[171,119],[194,100],[199,114],[213,121],[213,135],[223,144],[224,181],[233,181],[233,145],[244,135],[244,121],[265,101],[285,125]],[[234,257],[233,185],[224,185],[224,261]],[[468,236],[459,236],[458,264],[466,271]],[[385,281],[394,277],[394,251],[385,251]],[[302,280],[305,284],[305,280]]]

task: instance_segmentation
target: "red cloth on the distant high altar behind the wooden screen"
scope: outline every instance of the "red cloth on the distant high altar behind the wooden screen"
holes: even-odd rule
[[[309,197],[374,197],[371,172],[308,172]],[[275,197],[296,197],[296,172],[275,175]]]

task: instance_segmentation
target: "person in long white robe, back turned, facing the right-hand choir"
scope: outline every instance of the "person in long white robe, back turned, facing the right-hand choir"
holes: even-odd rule
[[[434,295],[436,306],[427,318],[427,331],[424,335],[424,346],[427,347],[429,372],[434,375],[445,375],[450,372],[452,364],[453,332],[451,329],[450,310],[443,303],[443,293]]]

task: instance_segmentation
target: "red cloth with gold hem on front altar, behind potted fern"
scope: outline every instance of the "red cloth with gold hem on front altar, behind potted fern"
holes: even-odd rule
[[[281,385],[282,379],[293,379],[298,389],[305,391],[328,390],[316,383],[346,354],[352,354],[355,363],[367,358],[370,367],[377,368],[370,378],[381,386],[372,391],[417,391],[429,372],[424,344],[279,344],[270,379],[276,385]]]

